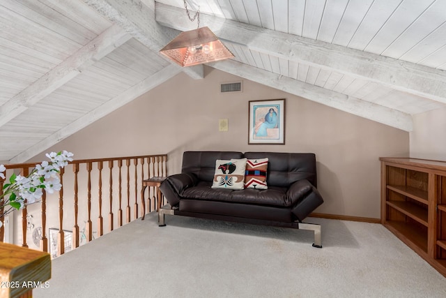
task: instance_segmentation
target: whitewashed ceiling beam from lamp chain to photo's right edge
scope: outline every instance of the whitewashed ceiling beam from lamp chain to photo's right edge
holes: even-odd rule
[[[185,10],[155,3],[156,21],[165,27],[195,29]],[[341,47],[293,34],[200,14],[200,25],[219,38],[275,57],[378,82],[386,87],[446,103],[446,71]]]

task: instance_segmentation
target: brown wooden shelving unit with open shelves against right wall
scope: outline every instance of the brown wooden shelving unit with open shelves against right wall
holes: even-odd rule
[[[446,276],[446,162],[380,161],[381,223]]]

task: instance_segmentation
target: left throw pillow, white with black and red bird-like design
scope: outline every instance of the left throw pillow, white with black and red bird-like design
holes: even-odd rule
[[[243,189],[247,158],[215,162],[215,174],[212,188]]]

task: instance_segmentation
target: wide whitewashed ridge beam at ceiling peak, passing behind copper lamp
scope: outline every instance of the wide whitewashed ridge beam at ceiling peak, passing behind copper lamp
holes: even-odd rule
[[[178,31],[162,27],[155,21],[155,1],[146,0],[142,3],[140,0],[82,0],[94,8],[102,17],[113,24],[118,25],[130,36],[148,47],[154,54],[167,45],[178,35]],[[161,57],[171,62],[192,79],[203,79],[203,66],[199,65],[193,68],[181,68],[173,61],[160,54]]]

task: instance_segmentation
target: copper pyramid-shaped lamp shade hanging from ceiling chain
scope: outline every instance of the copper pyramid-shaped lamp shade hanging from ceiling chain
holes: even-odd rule
[[[208,27],[178,34],[160,53],[180,66],[193,66],[234,57]]]

